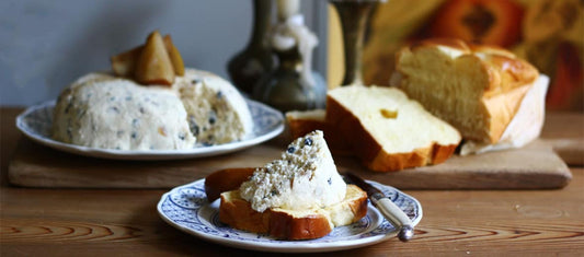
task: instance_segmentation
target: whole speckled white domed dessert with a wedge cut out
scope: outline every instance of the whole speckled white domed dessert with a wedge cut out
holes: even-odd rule
[[[170,150],[242,140],[253,120],[226,80],[186,69],[171,87],[140,85],[107,73],[87,74],[57,102],[53,137],[103,149]],[[195,140],[195,138],[197,140]]]

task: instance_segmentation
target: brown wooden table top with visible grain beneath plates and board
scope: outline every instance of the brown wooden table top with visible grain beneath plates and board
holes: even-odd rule
[[[167,190],[8,185],[8,163],[22,137],[14,127],[21,109],[0,110],[0,256],[271,256],[207,243],[171,227],[156,211]],[[577,119],[575,124],[584,118],[548,114],[546,126],[565,116]],[[545,128],[542,137],[558,135]],[[314,256],[584,256],[584,167],[571,172],[572,182],[557,190],[404,190],[424,210],[413,241],[393,238]]]

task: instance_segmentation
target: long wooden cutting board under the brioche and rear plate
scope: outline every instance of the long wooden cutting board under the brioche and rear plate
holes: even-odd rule
[[[279,156],[289,139],[221,156],[183,161],[111,161],[72,155],[22,139],[9,166],[9,180],[47,188],[171,188],[227,167],[253,167]],[[400,189],[561,188],[572,175],[549,143],[518,150],[453,156],[443,164],[397,173],[374,173],[352,157],[336,157],[340,172],[352,171]]]

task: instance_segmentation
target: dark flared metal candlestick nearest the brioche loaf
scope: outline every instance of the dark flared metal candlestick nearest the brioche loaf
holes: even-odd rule
[[[365,26],[377,1],[329,0],[339,13],[343,31],[345,74],[342,85],[363,85],[362,51]]]

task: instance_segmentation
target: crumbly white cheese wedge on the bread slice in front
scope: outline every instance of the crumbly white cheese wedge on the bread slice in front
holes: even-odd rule
[[[296,139],[279,160],[257,168],[240,187],[241,197],[259,212],[322,208],[342,201],[345,192],[320,130]]]

